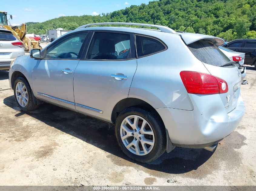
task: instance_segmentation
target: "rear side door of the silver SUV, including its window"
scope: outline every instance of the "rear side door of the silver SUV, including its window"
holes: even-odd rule
[[[76,110],[110,121],[115,104],[128,97],[136,68],[134,34],[94,32],[74,74]]]

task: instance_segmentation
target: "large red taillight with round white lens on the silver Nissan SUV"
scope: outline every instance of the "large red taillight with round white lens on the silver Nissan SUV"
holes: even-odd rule
[[[222,94],[228,92],[225,80],[201,72],[181,71],[181,80],[189,94]]]

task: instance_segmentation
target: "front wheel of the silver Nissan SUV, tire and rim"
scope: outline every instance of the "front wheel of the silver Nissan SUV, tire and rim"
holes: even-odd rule
[[[33,102],[32,91],[27,80],[18,77],[14,82],[13,91],[15,101],[22,111],[32,111],[38,108],[38,105]]]

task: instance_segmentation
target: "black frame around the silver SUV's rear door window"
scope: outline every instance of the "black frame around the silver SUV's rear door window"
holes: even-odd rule
[[[91,45],[91,41],[92,38],[95,34],[95,32],[105,32],[105,33],[120,33],[120,34],[128,34],[130,35],[130,48],[131,48],[131,57],[132,58],[128,58],[128,59],[115,59],[115,60],[104,60],[104,59],[88,59],[88,51],[89,51],[89,47]],[[130,33],[130,32],[123,32],[123,31],[116,31],[116,30],[91,30],[91,39],[88,41],[88,46],[86,47],[87,49],[84,49],[83,58],[85,59],[81,59],[81,60],[90,60],[90,61],[125,61],[125,60],[134,60],[136,59],[136,45],[135,45],[135,36],[134,33]],[[84,56],[85,55],[85,56]]]

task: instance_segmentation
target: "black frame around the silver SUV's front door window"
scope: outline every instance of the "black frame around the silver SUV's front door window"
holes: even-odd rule
[[[41,51],[41,54],[44,54],[44,56],[45,56],[46,55],[46,51],[47,51],[48,48],[54,46],[55,44],[62,43],[64,38],[69,37],[69,36],[73,36],[73,35],[78,34],[78,33],[87,33],[87,35],[85,37],[85,40],[82,43],[82,46],[81,46],[81,48],[79,50],[77,59],[63,59],[63,58],[42,58],[42,59],[40,58],[40,59],[38,59],[38,58],[35,58],[35,60],[81,60],[82,53],[83,53],[83,51],[85,49],[85,46],[86,46],[86,43],[87,43],[87,41],[88,41],[88,39],[90,37],[90,32],[91,31],[88,31],[88,30],[82,30],[82,31],[77,31],[77,32],[70,33],[68,35],[65,35],[65,36],[61,37],[60,39],[58,39],[54,43],[51,43],[49,46],[45,47]]]

